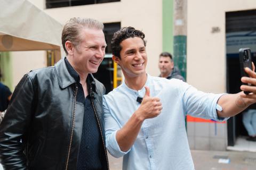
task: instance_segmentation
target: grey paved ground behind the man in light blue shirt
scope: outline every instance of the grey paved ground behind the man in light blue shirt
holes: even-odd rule
[[[256,152],[191,150],[191,154],[196,170],[256,169]],[[110,170],[122,169],[122,158],[109,156],[109,163]]]

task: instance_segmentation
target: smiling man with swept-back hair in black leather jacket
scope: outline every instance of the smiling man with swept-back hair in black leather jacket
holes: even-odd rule
[[[0,125],[5,169],[108,169],[105,88],[91,74],[105,55],[102,30],[97,20],[70,19],[62,30],[67,57],[21,79]]]

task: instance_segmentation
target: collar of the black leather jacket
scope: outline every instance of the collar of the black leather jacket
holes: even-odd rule
[[[59,62],[54,65],[55,73],[57,74],[57,78],[59,81],[59,86],[62,89],[67,88],[73,83],[76,83],[76,80],[69,74],[66,63],[64,61],[65,58],[62,58]],[[93,75],[88,74],[90,79],[90,87],[92,90],[97,93],[96,84]]]

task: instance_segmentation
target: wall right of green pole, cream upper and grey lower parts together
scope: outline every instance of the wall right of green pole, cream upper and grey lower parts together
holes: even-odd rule
[[[187,82],[213,93],[226,92],[226,12],[256,8],[255,0],[188,1]],[[212,33],[213,27],[220,31]],[[191,149],[225,150],[227,124],[188,123]],[[215,133],[216,132],[216,133]]]

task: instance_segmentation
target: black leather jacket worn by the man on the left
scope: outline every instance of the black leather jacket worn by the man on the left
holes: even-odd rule
[[[109,169],[102,112],[105,88],[89,77],[105,148],[103,166]],[[76,169],[84,113],[76,94],[76,81],[63,59],[21,79],[0,125],[0,159],[5,169]]]

